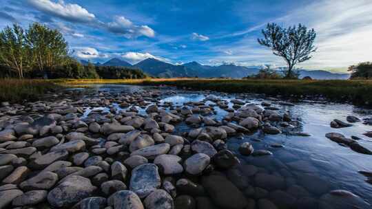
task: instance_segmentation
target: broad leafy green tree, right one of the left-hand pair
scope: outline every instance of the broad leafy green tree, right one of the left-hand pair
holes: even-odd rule
[[[40,23],[33,23],[26,32],[32,58],[43,73],[54,70],[68,60],[68,43],[63,34]]]

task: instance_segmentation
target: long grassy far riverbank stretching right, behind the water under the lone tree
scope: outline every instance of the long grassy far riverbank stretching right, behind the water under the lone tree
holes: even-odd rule
[[[372,105],[372,80],[257,80],[157,78],[137,80],[56,80],[63,85],[99,83],[128,85],[171,85],[193,90],[227,93],[257,93],[294,99],[335,100],[358,105]]]

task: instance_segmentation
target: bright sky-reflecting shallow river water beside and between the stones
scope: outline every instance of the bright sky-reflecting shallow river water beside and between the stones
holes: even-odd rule
[[[159,91],[174,90],[176,94],[162,95],[161,103],[173,102],[176,106],[182,106],[184,102],[200,101],[205,98],[205,94],[200,91],[181,91],[169,87],[140,87],[132,85],[92,85],[88,89],[71,89],[74,91],[96,92],[110,91],[114,93],[121,92],[139,92],[144,89],[158,89]],[[211,93],[224,100],[231,100],[237,97],[234,94]],[[209,94],[210,95],[210,94]],[[260,104],[265,98],[258,96],[249,96],[242,99],[245,102]],[[273,101],[271,101],[273,102]],[[213,102],[207,102],[213,104]],[[285,129],[279,135],[265,135],[260,131],[253,135],[244,135],[240,137],[230,137],[227,145],[231,151],[238,155],[242,166],[253,164],[258,169],[265,169],[272,175],[283,177],[288,185],[299,185],[311,192],[313,197],[318,198],[323,192],[333,189],[344,189],[353,192],[362,197],[365,201],[372,203],[372,185],[367,183],[366,177],[358,173],[360,170],[372,170],[372,155],[364,155],[352,151],[347,146],[327,139],[324,135],[329,132],[342,133],[346,137],[355,135],[363,140],[358,141],[363,146],[372,149],[372,138],[368,138],[362,133],[372,131],[372,126],[354,123],[353,126],[333,129],[329,123],[334,119],[346,121],[347,115],[355,115],[358,118],[371,118],[372,110],[360,109],[351,104],[322,104],[318,102],[297,102],[294,107],[282,106],[273,102],[274,107],[278,107],[280,113],[288,112],[292,119],[298,120],[298,126]],[[232,106],[232,104],[229,104]],[[118,104],[114,104],[117,111],[121,110]],[[105,108],[94,108],[103,109]],[[217,120],[222,120],[227,111],[214,107]],[[85,111],[85,115],[90,109]],[[145,114],[141,109],[141,114]],[[176,126],[176,132],[188,131],[190,128],[184,123]],[[302,137],[290,134],[292,131],[311,134],[310,137]],[[238,153],[237,149],[242,142],[251,142],[255,150],[266,149],[273,155],[262,157],[245,157]],[[282,148],[274,148],[273,143],[283,144]],[[242,168],[244,170],[244,168]],[[247,177],[252,181],[252,177]],[[318,192],[320,190],[320,192]]]

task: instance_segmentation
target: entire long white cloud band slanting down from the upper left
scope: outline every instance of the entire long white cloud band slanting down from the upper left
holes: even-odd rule
[[[93,28],[99,28],[122,35],[127,39],[136,38],[138,36],[154,37],[155,32],[147,25],[135,25],[129,19],[123,16],[116,16],[114,20],[105,23],[96,19],[95,15],[88,12],[85,8],[76,3],[65,3],[60,0],[58,2],[50,0],[28,0],[37,10],[50,14],[52,17],[58,17],[72,23],[82,23]],[[76,33],[72,33],[72,35]],[[79,34],[77,34],[79,36]]]

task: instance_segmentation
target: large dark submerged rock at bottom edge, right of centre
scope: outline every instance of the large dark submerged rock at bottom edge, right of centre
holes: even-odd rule
[[[203,177],[203,186],[211,200],[221,208],[238,209],[247,206],[247,199],[242,192],[222,175]]]

